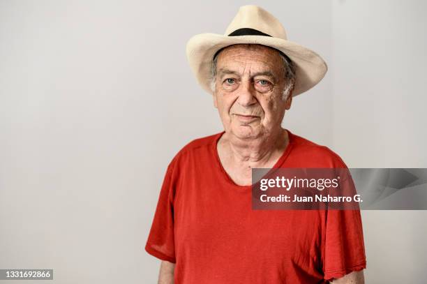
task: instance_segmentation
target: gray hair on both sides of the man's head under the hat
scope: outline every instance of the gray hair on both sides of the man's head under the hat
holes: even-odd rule
[[[211,65],[211,90],[212,92],[215,91],[215,85],[216,85],[216,65],[218,63],[218,54],[216,53],[216,56],[213,58],[212,65]],[[279,52],[280,58],[283,61],[283,73],[285,73],[285,87],[283,88],[283,95],[282,99],[287,100],[288,96],[291,94],[291,91],[295,87],[295,65],[290,60],[289,57],[287,57],[282,52]]]

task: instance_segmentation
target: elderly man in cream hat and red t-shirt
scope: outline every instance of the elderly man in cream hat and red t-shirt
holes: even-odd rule
[[[167,167],[146,250],[159,283],[364,283],[358,210],[253,210],[253,168],[345,167],[281,127],[292,97],[327,71],[281,24],[243,6],[225,36],[197,35],[190,66],[224,131],[194,140]]]

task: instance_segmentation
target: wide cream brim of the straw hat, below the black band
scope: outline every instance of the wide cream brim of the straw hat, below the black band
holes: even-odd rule
[[[188,40],[186,54],[197,81],[209,94],[212,94],[210,83],[213,55],[223,47],[244,43],[273,47],[294,62],[296,79],[292,96],[308,91],[327,73],[327,63],[319,54],[289,40],[270,36],[223,36],[216,33],[201,33]]]

